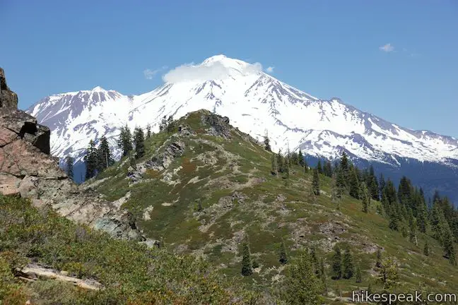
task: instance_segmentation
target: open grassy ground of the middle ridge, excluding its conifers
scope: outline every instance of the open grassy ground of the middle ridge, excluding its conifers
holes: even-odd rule
[[[336,210],[327,177],[321,177],[324,192],[314,203],[310,196],[311,173],[293,167],[288,181],[272,176],[269,152],[236,129],[232,130],[231,140],[207,135],[204,130],[209,126],[202,125],[201,115],[202,112],[194,112],[178,122],[189,125],[196,131],[195,136],[171,138],[167,133],[158,133],[146,140],[143,160],[161,152],[164,141],[167,145],[180,138],[186,144],[184,155],[164,172],[150,170],[143,182],[129,186],[125,178],[129,165],[124,162],[98,177],[105,180],[97,190],[110,200],[131,192],[124,206],[138,217],[149,237],[162,239],[175,251],[204,256],[226,275],[264,287],[281,278],[281,239],[290,256],[298,248],[316,245],[318,253],[327,257],[328,268],[331,246],[336,242],[351,245],[363,270],[363,282],[357,285],[353,279],[330,280],[329,288],[334,292],[341,289],[345,294],[367,287],[369,282],[374,285],[375,245],[384,248],[384,256],[393,256],[399,262],[400,291],[419,285],[435,292],[450,292],[458,287],[458,279],[450,272],[452,267],[442,258],[440,245],[434,239],[421,234],[419,246],[415,246],[399,232],[390,231],[387,220],[375,213],[377,202],[372,201],[369,214],[362,213],[360,202],[353,198],[345,198],[340,210]],[[175,184],[161,180],[174,171]],[[233,193],[242,200],[230,199]],[[221,204],[221,198],[225,204]],[[203,211],[197,211],[198,201]],[[151,220],[142,220],[147,207],[153,207]],[[324,230],[326,227],[331,232]],[[249,235],[252,254],[261,267],[252,277],[242,278],[238,247],[244,233]],[[422,254],[426,239],[432,252],[429,257]]]

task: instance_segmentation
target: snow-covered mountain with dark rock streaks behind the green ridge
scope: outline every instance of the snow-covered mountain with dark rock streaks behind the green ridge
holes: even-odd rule
[[[319,100],[262,72],[257,64],[217,55],[199,65],[176,68],[167,82],[143,95],[94,88],[46,97],[28,109],[52,130],[52,154],[81,158],[91,138],[115,138],[128,124],[158,131],[163,116],[179,118],[209,109],[230,118],[241,131],[261,139],[269,133],[274,150],[302,148],[334,158],[342,149],[364,160],[399,165],[399,158],[458,160],[458,140],[413,131],[362,112],[337,98]],[[456,162],[455,162],[456,163]]]

